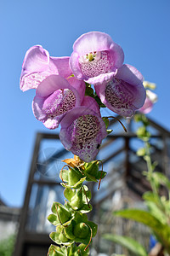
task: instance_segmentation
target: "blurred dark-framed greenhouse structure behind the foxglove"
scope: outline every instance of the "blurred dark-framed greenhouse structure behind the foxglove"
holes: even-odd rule
[[[118,117],[119,118],[119,117]],[[170,132],[150,121],[152,134],[152,160],[157,160],[157,171],[170,173]],[[142,171],[146,169],[144,160],[136,155],[141,146],[135,134],[136,124],[129,121],[128,132],[117,129],[116,120],[112,120],[113,135],[105,138],[99,151],[99,160],[103,160],[104,170],[108,172],[97,190],[97,184],[90,183],[93,195],[91,201],[94,210],[93,216],[99,218],[99,207],[106,201],[111,201],[117,189],[123,186],[136,196],[141,196],[150,186],[146,183]],[[47,255],[48,247],[53,243],[48,234],[54,228],[48,224],[47,216],[53,201],[64,202],[63,188],[60,186],[59,170],[61,161],[72,157],[72,154],[63,148],[59,136],[54,133],[37,133],[34,152],[32,154],[31,170],[28,178],[24,206],[20,215],[20,228],[13,256],[42,256]],[[99,236],[98,236],[99,239]],[[96,243],[97,244],[97,243]],[[99,243],[98,243],[99,244]],[[99,248],[98,248],[99,249]]]

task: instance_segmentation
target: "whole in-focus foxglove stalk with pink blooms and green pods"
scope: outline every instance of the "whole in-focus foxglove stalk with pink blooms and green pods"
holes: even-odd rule
[[[60,125],[61,143],[75,154],[74,159],[64,160],[66,166],[59,174],[66,201],[64,206],[54,202],[48,220],[56,227],[50,237],[60,246],[49,247],[48,256],[89,254],[97,224],[88,221],[91,194],[83,182],[99,182],[100,186],[106,172],[103,165],[99,171],[102,162],[95,159],[103,139],[111,133],[109,119],[101,117],[100,108],[131,117],[146,97],[142,74],[123,61],[122,47],[105,32],[82,34],[70,57],[52,57],[41,45],[26,52],[20,89],[36,90],[32,102],[36,119],[50,130]]]

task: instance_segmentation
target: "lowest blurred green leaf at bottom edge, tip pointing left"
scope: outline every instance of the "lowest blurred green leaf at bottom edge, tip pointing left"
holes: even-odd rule
[[[131,237],[127,236],[116,236],[112,234],[105,234],[103,236],[106,240],[114,241],[120,244],[122,247],[126,247],[130,252],[138,256],[148,256],[148,253],[138,241],[135,241]]]

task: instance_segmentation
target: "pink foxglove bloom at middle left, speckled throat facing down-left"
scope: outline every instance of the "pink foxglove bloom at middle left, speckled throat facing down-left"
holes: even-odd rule
[[[32,102],[35,117],[48,129],[59,126],[60,120],[72,108],[80,106],[85,93],[85,83],[73,77],[50,75],[37,87]]]

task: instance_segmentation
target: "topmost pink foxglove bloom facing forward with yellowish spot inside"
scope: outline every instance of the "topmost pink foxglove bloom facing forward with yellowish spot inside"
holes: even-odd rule
[[[101,84],[116,74],[123,60],[122,48],[108,34],[88,32],[74,43],[70,66],[77,79]]]

